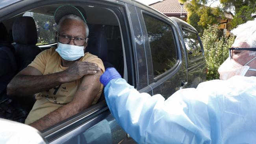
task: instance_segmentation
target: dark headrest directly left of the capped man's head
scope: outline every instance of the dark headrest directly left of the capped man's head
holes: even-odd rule
[[[37,28],[32,17],[19,17],[13,24],[13,42],[35,45],[37,43]]]

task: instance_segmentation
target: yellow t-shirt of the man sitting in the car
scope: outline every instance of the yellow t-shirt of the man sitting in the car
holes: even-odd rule
[[[55,51],[55,49],[55,47],[52,47],[49,50],[44,50],[38,54],[32,63],[28,66],[33,66],[42,72],[43,75],[53,74],[66,70],[68,67],[61,66],[61,57],[58,52]],[[85,53],[79,61],[96,63],[101,68],[102,72],[105,71],[102,60],[95,55],[89,54],[89,52]],[[46,114],[58,109],[62,105],[71,102],[81,82],[82,80],[78,79],[71,83],[63,83],[52,89],[36,94],[36,102],[28,114],[28,117],[25,120],[25,124],[31,124]],[[95,104],[98,101],[102,89],[103,85],[101,85],[101,88],[92,104]]]

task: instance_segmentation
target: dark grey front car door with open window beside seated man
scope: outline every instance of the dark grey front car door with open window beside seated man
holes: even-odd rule
[[[147,85],[147,72],[138,72],[139,70],[143,70],[147,65],[145,63],[145,57],[137,57],[136,52],[140,53],[142,48],[135,39],[135,37],[140,35],[140,33],[137,31],[140,28],[136,26],[138,18],[134,11],[134,4],[130,0],[126,0],[125,2],[117,0],[21,0],[17,1],[16,3],[4,3],[6,6],[0,7],[0,13],[2,12],[3,14],[0,16],[0,20],[4,21],[15,15],[24,13],[26,11],[33,11],[34,9],[53,14],[54,11],[51,12],[46,8],[58,7],[61,4],[67,3],[79,6],[85,5],[87,9],[96,9],[100,7],[101,9],[107,9],[108,12],[115,15],[119,22],[122,40],[122,75],[124,79],[126,79],[131,85],[134,85],[136,89],[140,90],[141,92],[148,92],[149,94],[152,94],[152,89]],[[96,16],[97,15],[95,14],[95,17]],[[143,52],[145,51],[143,50]],[[139,64],[137,63],[138,60]],[[146,83],[146,85],[143,83]],[[46,138],[47,142],[51,144],[116,144],[119,142],[125,142],[127,139],[127,134],[117,124],[104,100],[89,107],[81,113],[67,118],[63,122],[42,131],[42,135],[44,138]]]

